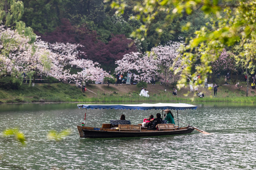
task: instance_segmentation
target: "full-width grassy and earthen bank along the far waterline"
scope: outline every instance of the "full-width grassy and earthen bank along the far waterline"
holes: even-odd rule
[[[178,96],[172,95],[172,87],[161,85],[148,85],[150,97],[138,95],[140,89],[136,85],[89,85],[88,90],[82,93],[75,85],[36,84],[34,87],[27,84],[18,90],[0,89],[0,102],[241,102],[256,103],[255,90],[249,89],[250,96],[245,97],[246,92],[232,86],[220,86],[217,97],[213,97],[213,91],[199,87],[199,91],[205,97],[199,98],[195,93],[188,92],[188,88],[178,91]],[[90,89],[90,90],[89,90]],[[166,92],[165,92],[166,89]],[[93,92],[93,93],[92,93]],[[95,94],[97,93],[97,94]]]

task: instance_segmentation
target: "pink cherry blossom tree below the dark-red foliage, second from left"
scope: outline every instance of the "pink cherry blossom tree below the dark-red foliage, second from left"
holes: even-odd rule
[[[99,63],[89,59],[81,59],[79,56],[85,54],[78,51],[78,47],[82,47],[82,45],[57,42],[49,43],[47,49],[58,54],[56,58],[58,64],[63,67],[65,71],[68,70],[68,74],[58,75],[56,77],[64,80],[69,79],[77,83],[102,82],[103,78],[109,74],[100,68]],[[73,74],[73,71],[71,71],[72,68],[76,69],[76,72]]]

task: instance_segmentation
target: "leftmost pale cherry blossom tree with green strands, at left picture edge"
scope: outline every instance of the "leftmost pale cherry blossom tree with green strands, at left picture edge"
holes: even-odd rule
[[[20,77],[23,73],[33,75],[34,71],[42,73],[50,65],[46,49],[37,49],[30,39],[17,31],[0,26],[0,76]],[[40,54],[40,55],[39,55]],[[40,56],[40,57],[39,57]]]

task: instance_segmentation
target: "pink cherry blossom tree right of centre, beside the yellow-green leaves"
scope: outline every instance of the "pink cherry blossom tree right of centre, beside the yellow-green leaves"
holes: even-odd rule
[[[132,52],[124,55],[123,59],[116,61],[116,73],[131,71],[134,80],[149,83],[155,76],[161,78],[165,85],[177,82],[179,74],[174,71],[180,67],[178,49],[183,42],[169,42],[165,46],[157,46],[149,53]],[[170,69],[173,68],[173,69]]]

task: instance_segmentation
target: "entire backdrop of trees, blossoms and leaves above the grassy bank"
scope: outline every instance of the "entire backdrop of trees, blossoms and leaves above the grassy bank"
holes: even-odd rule
[[[36,78],[88,85],[132,72],[136,82],[181,88],[188,77],[200,74],[197,86],[231,74],[233,82],[247,76],[248,93],[255,11],[252,0],[1,1],[0,86]]]

